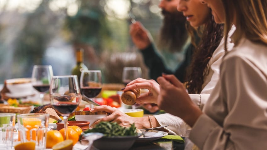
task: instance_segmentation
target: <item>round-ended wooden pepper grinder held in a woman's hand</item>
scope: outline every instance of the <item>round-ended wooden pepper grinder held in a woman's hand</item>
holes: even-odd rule
[[[141,89],[134,89],[125,91],[122,93],[122,102],[126,105],[133,105],[136,102],[136,98],[141,94]]]

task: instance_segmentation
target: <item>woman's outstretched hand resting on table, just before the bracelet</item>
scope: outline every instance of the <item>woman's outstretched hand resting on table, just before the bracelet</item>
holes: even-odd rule
[[[111,106],[107,106],[107,105],[97,106],[97,107],[91,109],[91,112],[93,112],[93,113],[97,112],[97,111],[105,111],[107,113],[110,113],[110,115],[97,120],[91,126],[94,126],[101,121],[112,121],[112,122],[117,122],[119,125],[121,125],[123,127],[128,127],[128,126],[130,126],[130,124],[135,123],[135,126],[139,129],[141,129],[141,127],[140,127],[140,126],[142,126],[142,125],[140,125],[141,122],[137,121],[139,119],[139,117],[130,117],[127,114],[122,113],[120,110],[118,110],[116,108],[112,108]]]

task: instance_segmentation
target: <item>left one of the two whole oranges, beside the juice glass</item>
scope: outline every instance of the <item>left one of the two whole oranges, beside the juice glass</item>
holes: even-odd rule
[[[57,130],[49,130],[46,136],[46,148],[52,148],[55,144],[64,141],[63,136]]]

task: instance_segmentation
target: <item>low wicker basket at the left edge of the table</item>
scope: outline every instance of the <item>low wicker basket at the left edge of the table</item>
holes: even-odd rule
[[[31,109],[31,105],[18,105],[18,107],[14,107],[6,104],[0,104],[0,113],[27,114],[31,112]]]

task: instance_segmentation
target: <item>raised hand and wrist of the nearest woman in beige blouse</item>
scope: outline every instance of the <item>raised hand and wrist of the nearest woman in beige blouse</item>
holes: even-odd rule
[[[157,81],[160,84],[157,100],[160,109],[182,118],[192,127],[202,111],[191,101],[183,83],[174,75],[162,75]]]

